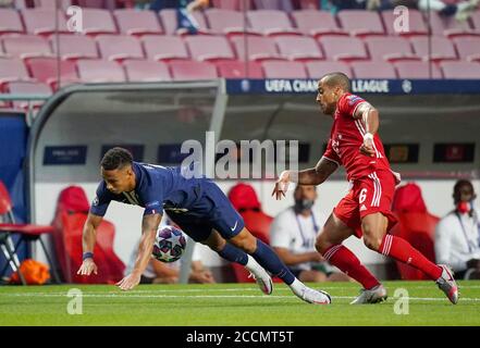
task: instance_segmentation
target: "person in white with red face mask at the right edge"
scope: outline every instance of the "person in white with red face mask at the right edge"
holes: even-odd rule
[[[435,228],[436,261],[450,264],[458,278],[480,279],[480,221],[471,182],[458,181],[453,198],[455,209]]]

